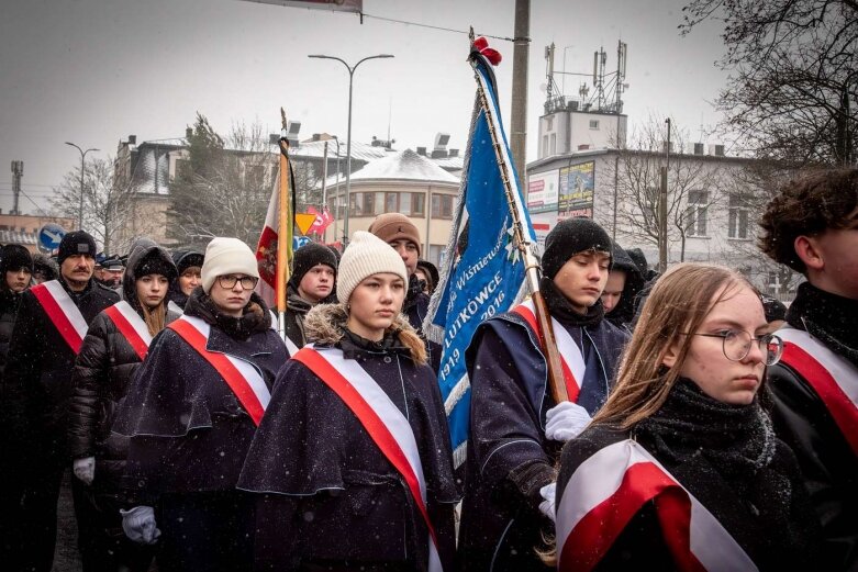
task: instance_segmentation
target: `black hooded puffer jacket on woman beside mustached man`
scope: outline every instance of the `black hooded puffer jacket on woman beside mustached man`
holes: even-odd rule
[[[134,269],[141,260],[149,257],[172,265],[167,250],[155,243],[137,243],[132,249],[123,277],[123,298],[141,316]],[[167,312],[166,323],[177,317],[179,314]],[[141,359],[131,343],[107,313],[101,312],[90,324],[75,362],[68,423],[69,455],[73,459],[96,457],[93,486],[99,490],[116,491],[120,485],[127,439],[111,435],[110,428],[119,403],[125,396],[129,382],[140,366]]]

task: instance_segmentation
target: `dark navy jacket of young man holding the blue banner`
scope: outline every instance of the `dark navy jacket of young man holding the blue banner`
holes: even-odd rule
[[[544,279],[550,314],[583,346],[587,374],[578,404],[593,414],[608,399],[627,334],[603,319],[601,303],[587,315]],[[515,313],[483,322],[466,352],[471,383],[460,570],[531,570],[550,521],[539,489],[554,481],[561,442],[545,437],[547,368],[535,333]]]

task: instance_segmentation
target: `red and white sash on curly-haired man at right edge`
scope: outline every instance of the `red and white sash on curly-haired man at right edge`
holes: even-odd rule
[[[784,341],[781,361],[807,380],[858,456],[858,368],[806,332],[785,327],[777,334]]]

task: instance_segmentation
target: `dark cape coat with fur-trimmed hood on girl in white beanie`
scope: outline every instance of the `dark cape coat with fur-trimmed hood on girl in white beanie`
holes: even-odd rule
[[[338,347],[357,360],[409,419],[438,552],[450,570],[459,496],[435,375],[395,336],[372,343],[345,322],[342,304],[315,306],[305,322],[309,338],[320,351]],[[402,316],[395,328],[410,329]],[[352,410],[298,361],[278,373],[238,487],[266,493],[257,504],[257,569],[427,569],[427,528],[404,480]]]

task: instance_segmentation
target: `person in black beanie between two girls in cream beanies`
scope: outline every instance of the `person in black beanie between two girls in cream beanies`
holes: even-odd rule
[[[286,335],[294,354],[308,343],[304,316],[316,304],[334,302],[336,256],[324,245],[309,243],[294,251],[294,268],[286,290]],[[287,344],[289,345],[289,344]]]

